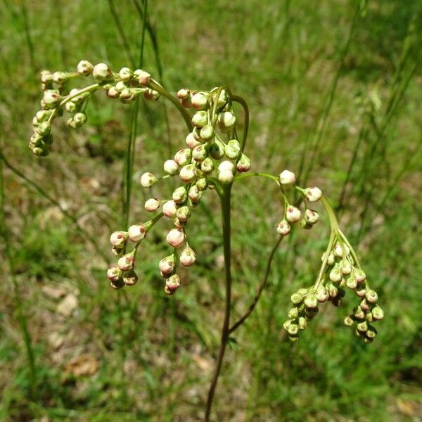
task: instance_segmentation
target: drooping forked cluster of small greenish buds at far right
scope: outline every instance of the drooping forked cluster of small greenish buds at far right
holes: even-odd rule
[[[371,323],[383,319],[383,310],[377,305],[378,295],[369,288],[366,274],[343,234],[335,238],[321,260],[321,270],[314,286],[301,288],[291,296],[293,308],[283,325],[290,340],[298,340],[298,332],[307,327],[307,321],[316,315],[320,303],[330,301],[334,306],[340,306],[348,288],[354,291],[360,302],[352,314],[346,316],[345,324],[356,324],[356,335],[365,343],[371,343],[377,333]]]

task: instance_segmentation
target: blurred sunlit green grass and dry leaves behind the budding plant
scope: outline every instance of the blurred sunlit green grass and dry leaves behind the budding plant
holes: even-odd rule
[[[136,62],[142,10],[141,0],[0,1],[1,421],[203,418],[223,317],[216,195],[192,217],[198,262],[177,295],[157,274],[161,223],[142,245],[139,283],[122,294],[105,271],[108,236],[123,228],[131,106],[98,93],[82,129],[56,120],[48,158],[27,148],[39,70]],[[172,92],[226,84],[248,101],[252,168],[288,168],[324,190],[385,310],[371,345],[343,326],[352,295],[290,344],[289,298],[313,283],[328,221],[296,230],[226,354],[214,420],[421,421],[421,1],[150,0],[148,23],[144,68]],[[136,172],[159,173],[184,144],[164,103],[141,103]],[[131,222],[148,195],[135,184]],[[272,186],[236,185],[234,317],[255,295],[281,212]]]

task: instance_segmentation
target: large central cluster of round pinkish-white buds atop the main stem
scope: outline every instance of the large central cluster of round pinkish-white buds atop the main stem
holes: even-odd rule
[[[147,212],[158,213],[155,218],[167,217],[172,221],[173,227],[167,232],[166,238],[172,253],[158,263],[160,275],[165,279],[165,293],[170,295],[181,285],[177,274],[178,264],[190,267],[196,261],[196,254],[189,246],[186,235],[186,226],[193,209],[199,205],[207,189],[214,189],[216,184],[230,184],[236,172],[247,172],[250,169],[250,160],[243,154],[236,136],[236,117],[229,93],[221,88],[200,92],[181,89],[177,96],[183,106],[195,110],[191,117],[193,130],[186,136],[186,148],[177,151],[173,158],[164,162],[165,175],[162,177],[146,172],[140,178],[144,188],[151,188],[160,179],[168,177],[178,177],[181,181],[171,198],[149,198],[145,203]],[[224,136],[228,141],[222,140]],[[151,222],[140,226],[149,227]],[[134,274],[136,250],[141,241],[137,236],[139,230],[134,227],[137,226],[112,235],[113,252],[122,254],[117,267],[108,270],[113,287],[122,287],[126,283],[125,271]],[[125,253],[124,249],[127,239],[136,242],[134,250],[129,253]],[[131,267],[126,269],[127,265]]]

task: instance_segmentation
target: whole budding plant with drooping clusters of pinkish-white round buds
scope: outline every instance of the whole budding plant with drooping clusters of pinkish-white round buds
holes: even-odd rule
[[[83,88],[69,89],[70,82],[79,77],[94,77],[95,81]],[[180,186],[174,189],[170,198],[146,200],[146,212],[154,214],[151,219],[111,234],[110,243],[117,262],[110,266],[107,276],[115,289],[134,286],[138,281],[135,271],[136,252],[155,223],[165,218],[170,225],[166,238],[169,254],[158,262],[158,271],[164,279],[165,293],[174,295],[183,283],[177,274],[178,268],[180,265],[190,267],[196,262],[196,252],[188,243],[189,219],[207,191],[217,192],[222,203],[226,302],[222,342],[207,397],[205,421],[210,418],[229,335],[243,324],[259,300],[281,238],[290,234],[292,226],[300,225],[303,229],[312,229],[319,221],[319,213],[312,209],[314,203],[321,202],[324,205],[331,225],[331,235],[321,257],[321,268],[314,284],[293,293],[293,307],[288,311],[288,319],[283,326],[290,340],[298,340],[300,331],[305,330],[309,321],[318,313],[319,305],[331,302],[334,306],[340,306],[346,290],[349,289],[357,296],[357,306],[345,317],[345,325],[354,326],[356,335],[365,343],[373,341],[377,334],[373,323],[383,319],[383,310],[377,305],[378,295],[369,287],[357,253],[340,230],[333,209],[321,190],[317,187],[298,186],[295,174],[289,170],[283,170],[278,177],[263,172],[249,172],[251,160],[244,153],[249,112],[243,98],[232,94],[226,87],[216,87],[210,91],[184,88],[177,92],[177,96],[173,96],[144,70],[122,68],[119,72],[113,72],[104,63],[92,65],[87,60],[79,62],[76,72],[41,72],[41,84],[44,95],[41,110],[36,113],[32,122],[34,133],[30,139],[30,148],[38,156],[49,153],[53,141],[51,123],[56,117],[68,113],[68,125],[72,128],[87,122],[84,109],[90,96],[96,91],[105,91],[106,96],[122,103],[131,103],[138,96],[143,96],[148,101],[157,101],[160,96],[164,96],[177,107],[186,122],[186,145],[173,158],[164,162],[160,175],[155,175],[156,171],[155,174],[146,172],[140,179],[144,188],[170,177],[178,178]],[[236,130],[234,103],[239,103],[243,108],[243,134],[240,138]],[[245,177],[264,177],[279,186],[283,217],[276,225],[276,232],[280,237],[269,257],[268,271],[255,302],[241,319],[231,325],[231,188],[234,182]],[[294,191],[300,196],[295,205],[289,200]]]

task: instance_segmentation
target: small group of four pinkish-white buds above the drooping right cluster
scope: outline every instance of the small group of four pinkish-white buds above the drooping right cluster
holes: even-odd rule
[[[293,172],[290,172],[290,170],[283,170],[283,172],[281,172],[281,174],[279,175],[279,184],[283,193],[285,207],[284,217],[281,222],[279,222],[279,224],[277,224],[276,226],[277,233],[281,236],[287,236],[290,233],[290,225],[299,221],[303,229],[312,229],[314,224],[319,222],[319,213],[315,210],[312,210],[312,208],[308,207],[307,205],[308,203],[314,203],[321,199],[321,189],[316,187],[302,189],[299,186],[295,186],[296,177]],[[303,213],[303,216],[302,212],[298,207],[295,207],[295,205],[291,205],[288,202],[286,192],[292,186],[295,186],[295,188],[298,189],[300,193],[302,193],[302,196],[304,198],[305,211]]]

